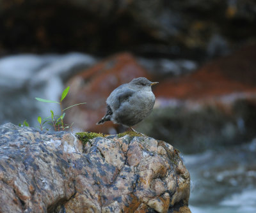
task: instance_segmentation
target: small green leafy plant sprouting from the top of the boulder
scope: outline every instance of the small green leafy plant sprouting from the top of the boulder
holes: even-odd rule
[[[77,105],[83,105],[85,103],[77,103],[76,105],[72,105],[70,107],[64,108],[62,107],[62,101],[63,99],[65,99],[65,97],[68,94],[70,87],[67,87],[61,94],[61,98],[60,98],[60,102],[58,101],[51,101],[51,100],[47,100],[47,99],[43,99],[43,98],[35,98],[37,101],[41,101],[41,102],[45,102],[45,103],[58,103],[60,105],[60,109],[61,109],[61,115],[54,115],[54,112],[51,110],[51,116],[46,117],[45,119],[42,119],[42,117],[38,116],[37,121],[40,124],[40,129],[43,130],[44,124],[47,122],[48,124],[50,124],[51,126],[53,126],[55,131],[60,131],[71,128],[72,124],[70,126],[68,126],[67,124],[64,124],[63,119],[65,117],[65,110],[68,110],[71,107],[75,107]],[[49,130],[49,129],[47,129]]]

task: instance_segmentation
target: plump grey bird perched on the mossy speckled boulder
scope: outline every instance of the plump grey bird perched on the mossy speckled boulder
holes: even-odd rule
[[[97,122],[97,125],[112,121],[114,124],[131,128],[141,122],[152,112],[156,98],[151,86],[157,83],[140,77],[117,87],[108,97],[107,113]],[[132,131],[135,130],[132,129]]]

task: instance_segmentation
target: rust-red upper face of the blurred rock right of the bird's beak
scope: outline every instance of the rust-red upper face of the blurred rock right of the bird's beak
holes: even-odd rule
[[[156,97],[177,99],[218,98],[256,93],[256,45],[202,66],[184,77],[167,79],[156,87]]]

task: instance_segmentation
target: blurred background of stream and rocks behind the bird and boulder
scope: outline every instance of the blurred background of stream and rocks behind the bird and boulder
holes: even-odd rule
[[[256,3],[253,0],[0,0],[0,124],[60,114],[95,123],[115,87],[158,81],[135,129],[180,150],[192,212],[256,212]]]

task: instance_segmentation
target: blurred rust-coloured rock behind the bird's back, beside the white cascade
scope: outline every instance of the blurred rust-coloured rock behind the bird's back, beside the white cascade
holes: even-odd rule
[[[78,129],[108,133],[109,128],[116,127],[112,122],[106,122],[103,126],[95,125],[106,113],[106,99],[116,87],[137,77],[149,76],[136,59],[127,53],[109,57],[72,77],[68,82],[71,87],[67,103],[86,102],[86,105],[73,108],[67,114],[68,122],[76,121],[75,128]]]

